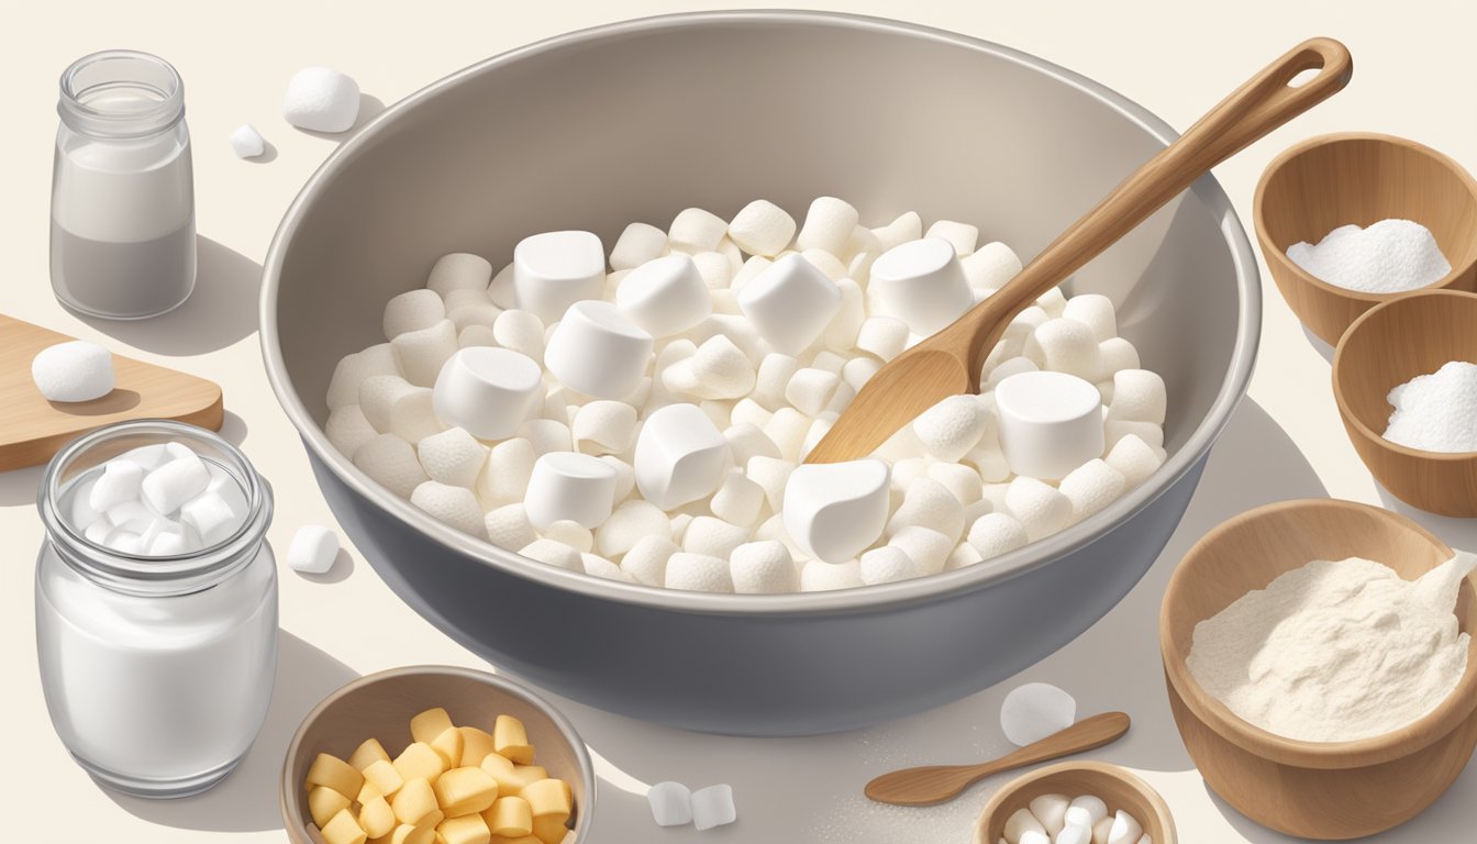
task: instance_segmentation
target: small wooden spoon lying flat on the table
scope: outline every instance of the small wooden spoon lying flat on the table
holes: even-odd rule
[[[932,806],[954,800],[975,782],[1006,770],[1100,748],[1128,732],[1128,715],[1103,712],[1059,733],[981,764],[932,764],[885,773],[867,783],[867,797],[895,806]]]

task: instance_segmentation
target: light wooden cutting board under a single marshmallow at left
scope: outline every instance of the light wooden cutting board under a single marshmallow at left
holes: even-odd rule
[[[0,472],[46,463],[77,435],[139,418],[179,420],[220,430],[220,386],[143,361],[112,356],[117,386],[90,402],[49,402],[31,380],[47,346],[75,340],[0,313]]]

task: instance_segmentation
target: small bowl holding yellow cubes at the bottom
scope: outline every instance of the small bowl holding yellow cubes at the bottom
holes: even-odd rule
[[[456,726],[492,732],[498,715],[523,721],[535,764],[563,779],[575,795],[573,829],[564,843],[589,837],[595,809],[595,773],[585,742],[554,707],[533,692],[486,671],[450,665],[412,665],[360,677],[313,707],[303,718],[282,763],[279,804],[292,844],[322,844],[307,813],[303,779],[321,752],[347,758],[368,738],[390,754],[411,743],[411,717],[443,707]]]

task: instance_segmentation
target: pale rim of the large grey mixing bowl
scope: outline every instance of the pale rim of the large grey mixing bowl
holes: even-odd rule
[[[292,421],[294,427],[297,427],[298,435],[307,443],[310,454],[322,461],[322,464],[328,467],[328,470],[332,472],[341,483],[344,483],[354,494],[372,501],[391,519],[417,531],[431,542],[436,542],[452,553],[493,566],[513,576],[597,600],[619,602],[629,606],[640,606],[662,612],[734,616],[849,615],[868,612],[877,606],[908,606],[956,599],[997,582],[1025,575],[1096,541],[1102,535],[1120,528],[1140,510],[1149,507],[1159,495],[1201,464],[1205,452],[1214,443],[1216,438],[1220,436],[1221,430],[1224,430],[1229,424],[1232,411],[1235,411],[1242,396],[1245,396],[1261,334],[1261,284],[1255,253],[1251,248],[1245,229],[1236,217],[1230,198],[1213,174],[1205,174],[1198,179],[1195,185],[1189,188],[1189,192],[1195,194],[1205,204],[1207,210],[1217,219],[1221,236],[1224,238],[1223,242],[1229,251],[1232,269],[1236,276],[1238,324],[1235,341],[1226,374],[1221,380],[1216,399],[1211,402],[1204,418],[1199,420],[1198,426],[1193,432],[1190,432],[1189,438],[1179,448],[1179,451],[1171,454],[1165,464],[1137,488],[1096,514],[1072,525],[1066,531],[1025,545],[1016,551],[1010,551],[1009,554],[1003,554],[998,559],[991,560],[988,565],[964,566],[962,569],[894,584],[820,593],[716,594],[629,584],[542,565],[514,551],[499,548],[486,540],[477,540],[471,535],[461,534],[421,513],[412,507],[409,501],[383,489],[378,483],[354,467],[352,461],[340,455],[338,451],[328,442],[322,427],[313,420],[307,406],[298,398],[297,390],[291,384],[287,362],[282,355],[276,318],[276,300],[282,268],[287,260],[288,244],[297,234],[304,216],[315,204],[322,185],[369,149],[378,136],[387,133],[387,130],[393,127],[393,121],[397,117],[412,112],[417,106],[443,89],[459,86],[484,74],[498,72],[504,67],[514,65],[515,62],[532,56],[563,52],[570,47],[595,41],[619,40],[632,34],[681,31],[685,28],[743,25],[860,30],[866,33],[882,33],[933,41],[948,47],[985,53],[995,59],[1003,59],[1047,75],[1060,84],[1094,98],[1120,117],[1139,126],[1152,140],[1168,145],[1179,137],[1179,133],[1143,106],[1128,101],[1103,84],[1092,81],[1087,77],[1060,68],[1044,59],[944,30],[885,18],[837,12],[725,10],[659,15],[566,33],[499,53],[446,75],[375,115],[368,124],[356,132],[353,137],[331,152],[319,169],[309,177],[309,180],[303,185],[303,189],[292,200],[282,223],[273,235],[272,245],[267,250],[267,256],[263,263],[263,284],[258,304],[258,336],[261,341],[261,355],[266,364],[267,381],[270,383],[272,390],[288,418]]]

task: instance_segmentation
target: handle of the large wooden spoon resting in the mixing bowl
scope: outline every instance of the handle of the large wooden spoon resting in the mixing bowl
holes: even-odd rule
[[[972,331],[967,358],[972,377],[978,377],[984,355],[997,338],[991,337],[997,333],[991,328],[998,325],[1003,331],[1004,324],[1031,302],[1097,257],[1211,167],[1340,92],[1349,84],[1353,67],[1344,44],[1309,38],[1232,92],[1179,140],[1124,179],[1003,290],[954,325]],[[1298,87],[1288,86],[1307,69],[1319,72]]]

